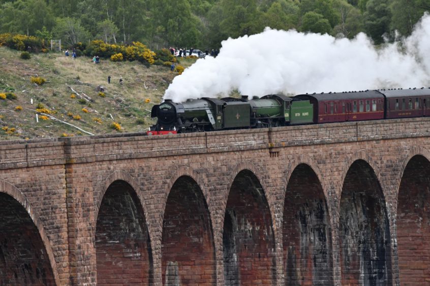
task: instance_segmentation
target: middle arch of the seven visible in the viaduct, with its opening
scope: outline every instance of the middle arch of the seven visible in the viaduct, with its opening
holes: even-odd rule
[[[274,225],[261,174],[248,161],[232,172],[223,227],[225,285],[276,283]]]

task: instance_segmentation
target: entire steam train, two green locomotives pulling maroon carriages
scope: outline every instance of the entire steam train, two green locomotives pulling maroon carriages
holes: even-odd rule
[[[165,100],[148,135],[430,116],[430,88]]]

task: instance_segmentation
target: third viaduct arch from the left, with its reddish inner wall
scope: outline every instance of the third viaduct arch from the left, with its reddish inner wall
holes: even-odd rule
[[[208,194],[201,186],[198,173],[185,166],[176,170],[168,184],[161,239],[164,285],[216,283]]]

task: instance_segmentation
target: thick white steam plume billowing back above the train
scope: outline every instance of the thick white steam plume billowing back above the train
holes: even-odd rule
[[[299,94],[430,86],[430,15],[410,37],[375,49],[360,33],[353,40],[330,35],[264,32],[222,42],[216,58],[199,59],[177,76],[164,99],[241,94]]]

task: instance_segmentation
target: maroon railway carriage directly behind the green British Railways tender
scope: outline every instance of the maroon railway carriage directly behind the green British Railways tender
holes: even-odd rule
[[[384,95],[376,90],[300,94],[314,104],[314,122],[384,119]]]

